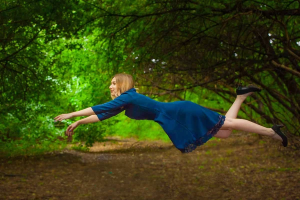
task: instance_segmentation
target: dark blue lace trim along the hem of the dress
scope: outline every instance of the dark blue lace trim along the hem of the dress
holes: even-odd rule
[[[182,153],[189,153],[196,149],[197,146],[200,146],[204,144],[206,141],[208,141],[212,136],[214,136],[217,131],[221,128],[221,126],[224,124],[225,116],[219,115],[218,122],[206,132],[206,134],[197,140],[195,140],[193,143],[188,144],[184,149],[179,149]]]

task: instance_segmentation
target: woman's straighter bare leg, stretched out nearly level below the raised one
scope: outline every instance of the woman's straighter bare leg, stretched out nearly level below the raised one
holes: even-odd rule
[[[237,119],[226,117],[224,124],[220,128],[221,130],[242,130],[247,132],[254,132],[257,134],[267,135],[274,139],[282,141],[281,137],[277,135],[271,128],[258,125],[246,119]]]

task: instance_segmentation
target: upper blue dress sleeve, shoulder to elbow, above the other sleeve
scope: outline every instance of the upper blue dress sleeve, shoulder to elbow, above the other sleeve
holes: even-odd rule
[[[91,106],[91,109],[94,111],[95,114],[100,114],[103,112],[111,112],[129,104],[130,101],[131,101],[131,96],[128,93],[124,92],[121,93],[121,95],[119,95],[118,97],[106,103]]]

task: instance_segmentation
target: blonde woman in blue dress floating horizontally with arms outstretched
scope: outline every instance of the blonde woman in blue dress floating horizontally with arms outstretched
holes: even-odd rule
[[[212,136],[226,138],[233,129],[270,136],[287,145],[287,137],[280,131],[283,125],[266,128],[245,119],[237,119],[237,112],[244,99],[261,89],[248,85],[236,89],[236,99],[225,115],[218,114],[191,101],[159,102],[136,92],[131,75],[119,73],[111,80],[109,102],[79,111],[60,114],[54,118],[61,121],[74,116],[89,116],[80,119],[66,129],[68,135],[84,123],[102,121],[125,110],[132,119],[149,119],[159,123],[175,147],[182,153],[191,152]],[[225,120],[226,119],[226,120]]]

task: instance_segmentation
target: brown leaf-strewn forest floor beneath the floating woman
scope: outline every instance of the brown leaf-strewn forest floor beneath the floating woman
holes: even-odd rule
[[[2,157],[0,199],[300,199],[298,151],[262,139],[235,133],[181,154],[111,137],[90,152]]]

